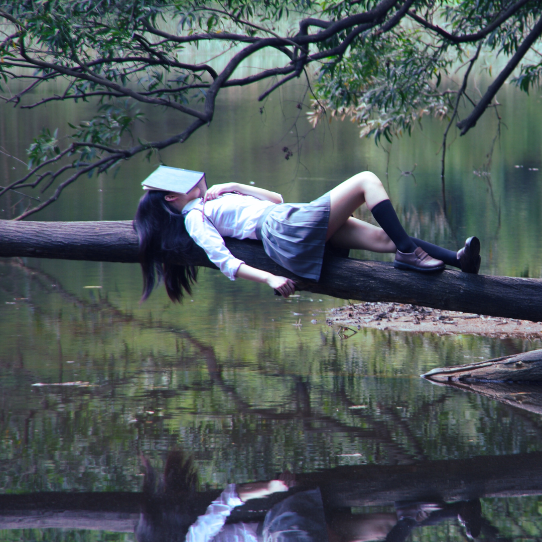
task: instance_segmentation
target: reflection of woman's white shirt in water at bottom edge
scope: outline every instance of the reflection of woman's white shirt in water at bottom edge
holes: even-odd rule
[[[231,483],[218,499],[211,502],[205,514],[199,516],[189,527],[186,542],[257,542],[256,532],[251,524],[227,525],[222,528],[231,511],[242,505],[243,501],[237,496],[235,484]]]

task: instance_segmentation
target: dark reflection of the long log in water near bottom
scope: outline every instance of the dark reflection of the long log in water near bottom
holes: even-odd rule
[[[457,501],[542,494],[542,453],[481,456],[410,465],[338,467],[296,476],[298,488],[321,488],[326,506],[392,505],[401,500]],[[198,509],[217,492],[199,493]],[[0,495],[0,529],[29,527],[133,531],[141,493],[33,493]],[[249,501],[233,521],[262,515],[284,494]],[[167,503],[166,503],[167,504]]]

